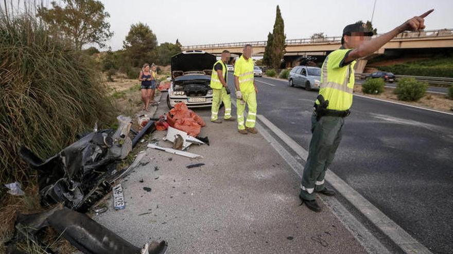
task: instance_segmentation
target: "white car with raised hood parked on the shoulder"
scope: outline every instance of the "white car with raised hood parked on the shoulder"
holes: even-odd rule
[[[184,102],[187,107],[211,107],[211,73],[216,56],[201,50],[183,51],[171,57],[171,84],[167,106]]]

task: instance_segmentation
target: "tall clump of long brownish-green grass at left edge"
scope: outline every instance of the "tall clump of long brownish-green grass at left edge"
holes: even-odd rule
[[[86,54],[49,36],[34,15],[6,14],[0,8],[0,183],[30,179],[21,146],[45,159],[112,119]]]

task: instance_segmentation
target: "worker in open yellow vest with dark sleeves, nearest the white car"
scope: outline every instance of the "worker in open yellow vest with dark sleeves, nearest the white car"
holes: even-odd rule
[[[226,61],[230,59],[230,51],[223,50],[222,56],[219,61],[214,63],[213,71],[211,74],[211,88],[213,89],[213,103],[211,107],[211,122],[221,123],[222,120],[218,119],[220,102],[223,102],[225,108],[225,121],[234,121],[231,117],[231,97],[230,89],[228,88],[228,70],[226,70]]]

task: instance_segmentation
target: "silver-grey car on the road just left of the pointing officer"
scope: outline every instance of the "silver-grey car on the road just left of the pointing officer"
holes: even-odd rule
[[[321,85],[321,68],[310,66],[296,66],[288,75],[289,86],[304,87],[305,90],[318,89]]]

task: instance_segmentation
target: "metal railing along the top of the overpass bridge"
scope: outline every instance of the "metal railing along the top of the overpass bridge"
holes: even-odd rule
[[[453,36],[453,29],[440,29],[440,30],[423,30],[423,31],[411,31],[402,32],[398,34],[392,41],[400,41],[418,37],[442,37],[442,36]],[[303,39],[292,39],[286,40],[286,45],[303,45],[312,43],[340,43],[342,36],[329,36],[324,38],[303,38]],[[255,42],[238,42],[238,43],[217,43],[217,44],[204,44],[204,45],[191,45],[183,46],[182,50],[189,49],[215,49],[215,48],[236,48],[243,47],[246,44],[252,46],[266,46],[266,41],[255,41]]]

